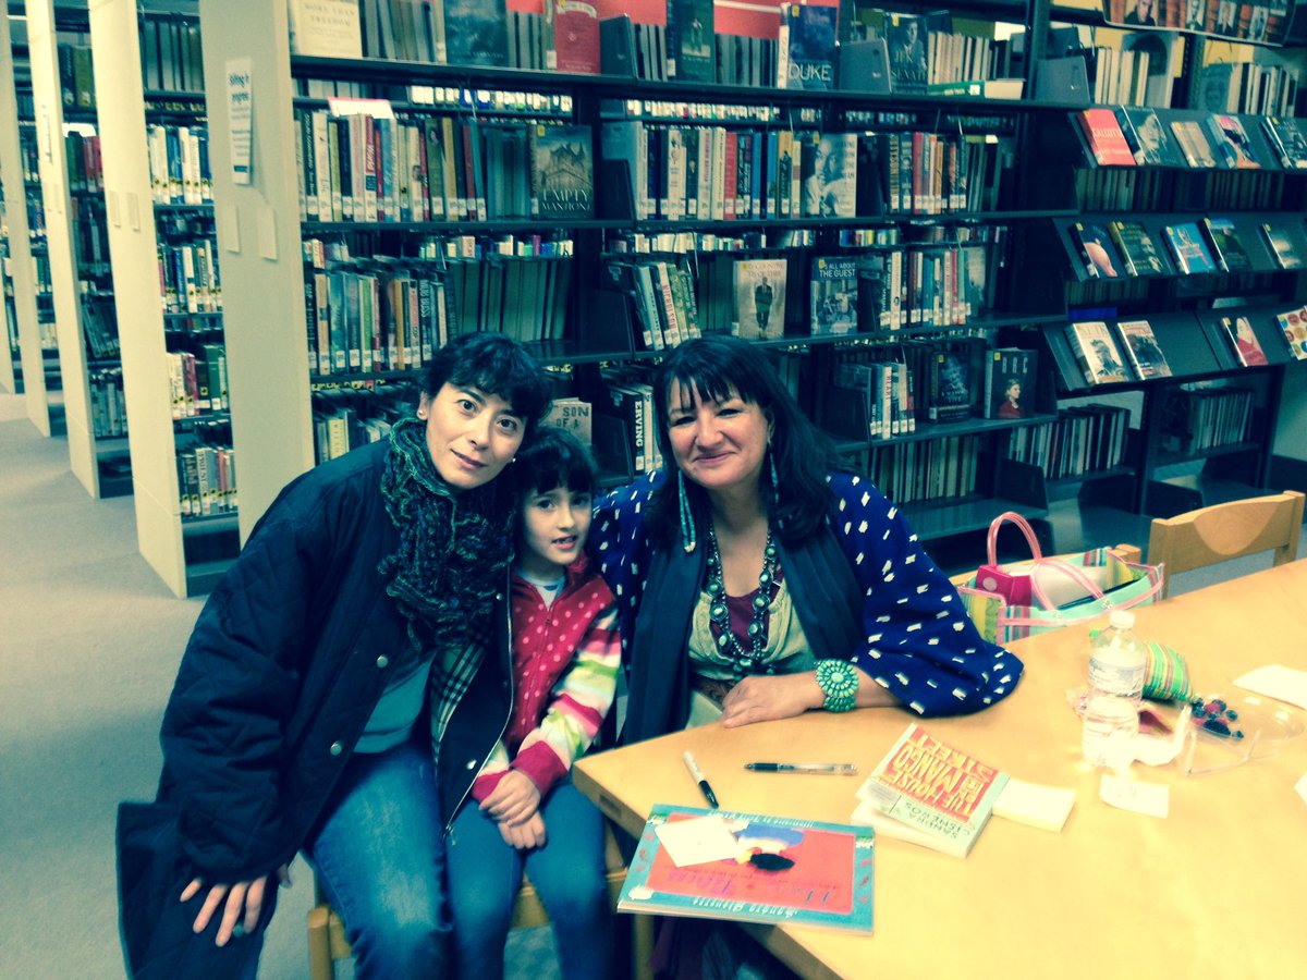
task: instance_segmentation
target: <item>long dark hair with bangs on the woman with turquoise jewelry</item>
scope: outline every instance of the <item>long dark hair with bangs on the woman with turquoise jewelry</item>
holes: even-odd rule
[[[732,393],[757,405],[771,421],[771,456],[776,464],[779,493],[765,493],[767,512],[786,541],[799,541],[821,527],[833,503],[826,477],[838,463],[830,438],[814,426],[795,396],[780,380],[761,348],[732,336],[699,337],[672,350],[654,379],[654,429],[663,451],[668,480],[654,493],[650,528],[664,545],[680,533],[676,464],[668,433],[672,385],[699,399],[720,401]],[[765,477],[770,482],[770,477]],[[704,493],[685,481],[695,512],[704,507]],[[779,502],[772,498],[779,498]]]

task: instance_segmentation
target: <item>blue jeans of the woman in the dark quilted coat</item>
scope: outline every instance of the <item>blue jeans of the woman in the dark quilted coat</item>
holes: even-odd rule
[[[444,977],[444,827],[425,743],[356,753],[305,853],[359,977]]]

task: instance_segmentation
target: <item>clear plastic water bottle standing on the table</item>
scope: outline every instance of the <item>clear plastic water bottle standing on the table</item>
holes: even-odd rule
[[[1134,614],[1114,609],[1090,647],[1081,750],[1093,766],[1124,768],[1134,757],[1148,651],[1133,630]]]

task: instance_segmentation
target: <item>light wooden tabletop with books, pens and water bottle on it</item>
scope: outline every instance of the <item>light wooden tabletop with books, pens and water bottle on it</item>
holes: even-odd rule
[[[1307,668],[1307,561],[1137,610],[1137,632],[1188,659],[1202,694],[1263,664]],[[966,860],[877,840],[876,930],[746,926],[814,977],[1307,976],[1307,736],[1238,768],[1185,776],[1136,763],[1170,787],[1170,817],[1108,806],[1080,758],[1065,691],[1084,683],[1087,627],[1013,644],[1016,693],[927,730],[1016,777],[1072,787],[1061,834],[993,818]],[[677,732],[583,759],[575,781],[633,834],[655,802],[702,806],[681,760],[693,749],[721,806],[846,822],[861,776],[753,774],[750,759],[856,762],[867,774],[910,720],[902,710],[812,712],[737,729]]]

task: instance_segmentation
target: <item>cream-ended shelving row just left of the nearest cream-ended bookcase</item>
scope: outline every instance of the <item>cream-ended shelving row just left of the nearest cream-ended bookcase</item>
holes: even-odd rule
[[[175,4],[162,13],[144,10],[132,0],[111,0],[90,9],[137,542],[145,559],[178,596],[207,592],[239,547],[230,494],[210,493],[203,507],[197,498],[193,506],[183,507],[187,451],[193,460],[197,431],[223,430],[227,414],[221,401],[218,409],[213,408],[208,391],[196,412],[195,399],[186,397],[184,389],[178,388],[175,367],[170,370],[170,354],[186,351],[203,358],[205,345],[221,348],[222,316],[209,308],[218,301],[213,297],[197,306],[192,289],[188,307],[184,282],[179,298],[174,295],[166,302],[161,294],[165,265],[166,278],[170,284],[175,281],[175,250],[213,238],[213,205],[197,200],[197,184],[188,187],[190,201],[184,204],[173,204],[171,192],[161,193],[152,186],[152,172],[156,182],[159,178],[166,182],[167,172],[159,174],[157,155],[152,166],[149,127],[163,128],[154,133],[156,150],[159,137],[171,136],[171,159],[176,163],[178,133],[207,125],[204,93],[184,89],[180,71],[169,72],[166,90],[157,78],[146,84],[142,73],[142,34],[149,31],[157,51],[161,30],[175,41],[187,22]],[[193,10],[190,24],[195,24]],[[188,51],[188,61],[190,57]],[[167,59],[171,63],[171,54]],[[148,65],[152,69],[158,65],[157,54],[152,52]],[[166,171],[166,139],[163,155]],[[186,174],[186,183],[195,183],[197,174],[196,161],[192,172]],[[175,176],[180,182],[180,171]],[[207,251],[207,259],[213,251]],[[171,358],[174,365],[176,361]],[[192,465],[192,473],[193,469]]]

